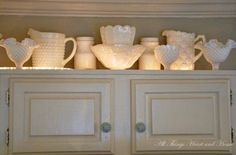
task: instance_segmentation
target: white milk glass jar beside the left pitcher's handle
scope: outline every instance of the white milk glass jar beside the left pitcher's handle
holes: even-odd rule
[[[93,37],[77,37],[77,51],[74,57],[75,69],[96,69],[96,57],[91,51]]]

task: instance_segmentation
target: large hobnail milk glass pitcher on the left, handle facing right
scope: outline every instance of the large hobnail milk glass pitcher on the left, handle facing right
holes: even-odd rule
[[[39,32],[29,29],[28,34],[37,42],[39,48],[32,55],[33,67],[61,68],[70,61],[76,53],[77,43],[74,38],[66,38],[65,34],[54,32]],[[73,50],[64,59],[66,42],[73,42]]]

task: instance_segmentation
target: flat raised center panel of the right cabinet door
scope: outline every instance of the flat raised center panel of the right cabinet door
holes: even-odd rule
[[[157,96],[157,95],[156,95]],[[191,98],[189,98],[191,97]],[[151,130],[153,135],[214,134],[217,112],[209,96],[169,94],[147,103],[151,104]],[[186,117],[187,116],[187,117]],[[164,119],[163,119],[164,118]],[[215,124],[215,125],[214,125]]]

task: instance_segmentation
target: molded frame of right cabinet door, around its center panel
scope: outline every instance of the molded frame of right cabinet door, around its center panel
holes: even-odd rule
[[[180,85],[179,85],[180,84]],[[181,88],[180,90],[174,90],[173,88],[177,88],[178,85],[179,86],[182,86],[181,84],[183,84],[183,88]],[[155,135],[152,135],[150,136],[149,133],[151,133],[151,126],[150,126],[150,120],[147,120],[148,119],[148,116],[146,115],[147,112],[143,112],[143,114],[141,114],[142,116],[140,116],[140,114],[138,114],[136,112],[136,101],[139,102],[141,104],[142,101],[144,101],[145,103],[143,103],[145,106],[144,108],[139,108],[141,109],[141,111],[146,111],[145,108],[147,108],[146,103],[147,100],[149,101],[150,98],[151,99],[158,99],[158,98],[166,98],[167,95],[165,94],[166,92],[168,93],[168,89],[169,88],[164,88],[165,85],[169,85],[169,87],[171,88],[172,87],[172,90],[170,90],[170,92],[174,93],[180,93],[180,95],[182,95],[181,93],[183,92],[186,92],[185,90],[183,91],[184,88],[187,88],[188,87],[188,84],[193,87],[193,89],[191,90],[191,88],[189,88],[189,91],[190,92],[193,92],[192,93],[192,97],[195,97],[197,98],[198,96],[199,97],[203,97],[204,96],[211,96],[212,100],[214,101],[213,103],[215,104],[215,100],[216,100],[216,103],[218,103],[219,105],[218,106],[218,110],[219,110],[219,118],[218,118],[218,121],[219,121],[219,124],[217,125],[216,124],[216,127],[219,126],[218,130],[219,131],[216,131],[216,133],[218,133],[217,135],[213,135],[212,138],[214,137],[217,137],[220,135],[220,137],[216,140],[222,140],[224,141],[226,144],[229,144],[231,143],[231,138],[230,138],[230,126],[231,126],[231,122],[230,122],[230,81],[229,79],[138,79],[138,80],[132,80],[131,82],[131,94],[132,94],[132,97],[131,97],[131,100],[132,100],[132,152],[134,154],[155,154],[155,153],[230,153],[232,150],[231,150],[231,146],[224,146],[222,147],[221,149],[222,150],[217,150],[217,146],[216,147],[212,147],[211,149],[205,146],[203,146],[202,148],[197,148],[196,147],[196,150],[193,150],[194,147],[190,146],[189,147],[182,147],[182,150],[181,148],[180,149],[176,149],[172,146],[168,146],[169,143],[165,143],[163,144],[160,144],[158,142],[158,140],[162,140],[162,138],[165,140],[165,137],[161,137],[162,135],[159,135],[155,138]],[[203,86],[204,84],[209,84],[209,87],[210,86],[214,86],[216,85],[216,88],[208,88],[206,87],[206,90],[204,89],[201,89],[200,87]],[[217,85],[218,84],[218,85]],[[173,86],[172,86],[173,85]],[[194,89],[194,85],[197,87],[196,88],[196,92],[195,89]],[[197,86],[199,85],[199,86]],[[151,86],[151,88],[150,88]],[[208,85],[207,85],[208,86]],[[224,89],[223,90],[226,90],[226,92],[224,92],[223,90],[221,90],[221,86],[224,86]],[[160,87],[160,89],[158,89],[158,87]],[[141,89],[144,89],[144,90],[141,90]],[[148,90],[150,89],[150,90]],[[162,90],[163,89],[163,90]],[[213,90],[214,89],[214,90]],[[216,89],[216,90],[215,90]],[[139,92],[139,94],[137,93],[138,90],[141,90]],[[196,94],[194,94],[196,93]],[[206,93],[206,95],[205,95]],[[219,94],[220,98],[217,99],[217,94]],[[162,96],[162,94],[164,94]],[[142,96],[142,99],[139,98],[139,100],[137,99],[137,96]],[[143,99],[143,96],[145,97]],[[174,96],[174,95],[173,95]],[[184,96],[186,96],[184,94]],[[177,97],[178,97],[178,94],[177,94]],[[175,97],[173,97],[175,98]],[[140,101],[142,100],[142,101]],[[220,100],[220,101],[218,101]],[[226,103],[225,103],[226,102]],[[150,102],[151,103],[151,102]],[[137,103],[138,104],[138,103]],[[213,106],[214,107],[214,106]],[[217,111],[214,110],[214,111]],[[146,131],[141,133],[143,136],[140,136],[140,137],[143,137],[144,138],[144,141],[142,143],[137,143],[137,139],[136,139],[136,136],[137,136],[137,132],[135,131],[135,128],[136,128],[136,123],[138,123],[139,121],[136,120],[136,117],[140,118],[140,119],[143,119],[145,122],[144,123],[147,123],[146,124]],[[214,119],[215,120],[215,119]],[[215,123],[214,123],[215,124]],[[215,127],[215,128],[216,128]],[[223,131],[221,131],[223,130]],[[140,135],[141,135],[140,134]],[[201,135],[199,135],[200,137],[196,137],[195,139],[198,139],[198,138],[201,138]],[[143,139],[141,138],[141,139]],[[159,139],[158,139],[159,138]],[[167,137],[167,139],[170,138],[170,137]],[[209,143],[211,142],[211,138],[208,138],[208,137],[205,137],[205,142],[208,142],[209,140]],[[178,139],[178,138],[177,138]],[[183,139],[183,140],[188,140],[188,139]],[[194,138],[193,138],[194,140]],[[204,140],[204,139],[202,139]],[[214,141],[215,139],[212,139],[212,141]],[[155,144],[153,143],[152,145],[152,142],[155,142]],[[158,142],[158,143],[157,143]],[[218,142],[218,141],[217,141]],[[150,147],[145,147],[145,143],[147,145],[152,145]],[[157,145],[156,145],[157,143]],[[160,145],[159,145],[160,144]],[[142,145],[142,148],[144,148],[143,150],[138,148],[139,145]],[[171,148],[172,147],[172,148]],[[159,149],[158,149],[159,148]]]

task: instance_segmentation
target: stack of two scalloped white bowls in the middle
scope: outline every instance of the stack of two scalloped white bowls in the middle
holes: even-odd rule
[[[135,31],[135,27],[129,25],[102,26],[100,33],[103,44],[91,49],[97,59],[109,69],[130,68],[145,50],[142,45],[133,45]]]

